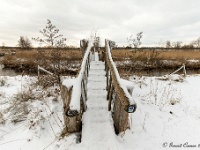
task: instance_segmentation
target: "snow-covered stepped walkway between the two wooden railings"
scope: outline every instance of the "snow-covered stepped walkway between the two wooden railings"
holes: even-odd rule
[[[87,85],[87,110],[83,115],[80,148],[118,150],[113,120],[106,100],[105,63],[92,61]],[[78,147],[79,147],[78,146]]]

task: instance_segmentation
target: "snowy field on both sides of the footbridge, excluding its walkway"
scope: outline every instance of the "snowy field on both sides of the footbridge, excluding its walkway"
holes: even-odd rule
[[[56,87],[42,90],[36,81],[0,76],[0,150],[67,150],[77,144],[76,134],[60,136],[64,122]],[[200,75],[182,82],[136,76],[130,81],[138,107],[131,129],[116,136],[120,149],[200,149]]]

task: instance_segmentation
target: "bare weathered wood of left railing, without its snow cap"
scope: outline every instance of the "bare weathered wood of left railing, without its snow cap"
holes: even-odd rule
[[[80,42],[82,54],[84,56],[86,48],[88,46],[88,42],[86,40],[82,40]],[[69,104],[71,101],[71,95],[73,91],[73,86],[71,89],[68,89],[66,86],[61,85],[61,97],[63,100],[63,108],[64,108],[64,121],[65,121],[65,130],[67,133],[80,132],[82,128],[82,115],[86,110],[86,100],[87,100],[87,77],[89,75],[90,68],[90,54],[87,56],[85,70],[83,72],[83,77],[81,80],[81,97],[80,97],[80,111],[70,110]]]

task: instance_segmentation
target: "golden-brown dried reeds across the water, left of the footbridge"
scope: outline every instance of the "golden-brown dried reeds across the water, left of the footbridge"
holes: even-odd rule
[[[82,52],[78,49],[59,51],[47,49],[18,50],[14,55],[4,56],[2,64],[4,68],[14,69],[17,72],[25,71],[26,74],[36,74],[38,65],[51,72],[57,72],[58,67],[56,66],[59,66],[59,71],[62,74],[77,74],[81,60]]]

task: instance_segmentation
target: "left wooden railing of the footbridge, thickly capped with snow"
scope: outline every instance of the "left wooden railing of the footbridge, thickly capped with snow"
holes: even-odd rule
[[[82,41],[80,43],[85,43]],[[63,100],[65,130],[67,133],[81,131],[81,119],[86,111],[87,77],[90,69],[90,43],[81,46],[84,57],[80,72],[75,79],[66,79],[61,85],[61,97]]]

